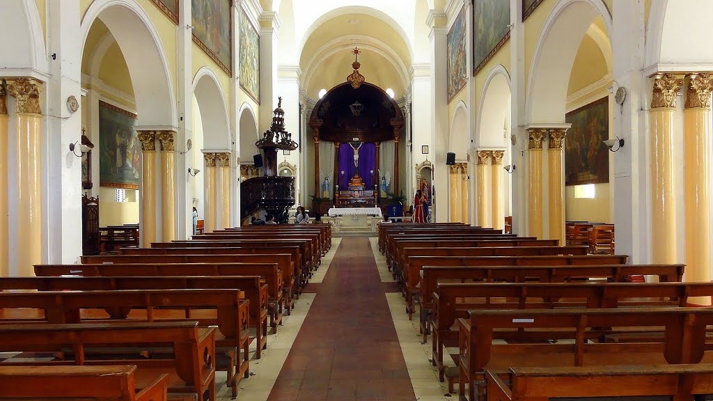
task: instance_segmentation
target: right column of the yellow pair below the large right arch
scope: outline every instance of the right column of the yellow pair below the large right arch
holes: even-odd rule
[[[548,178],[548,199],[550,205],[550,239],[560,240],[560,245],[565,245],[565,181],[564,181],[564,152],[562,151],[562,141],[565,139],[567,128],[553,128],[548,130],[549,148],[547,153]]]

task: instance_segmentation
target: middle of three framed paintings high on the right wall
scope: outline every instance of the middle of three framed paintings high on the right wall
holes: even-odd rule
[[[473,75],[510,38],[510,1],[473,2]]]

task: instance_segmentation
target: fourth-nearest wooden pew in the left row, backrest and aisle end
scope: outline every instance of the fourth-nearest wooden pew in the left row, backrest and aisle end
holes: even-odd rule
[[[259,275],[242,276],[114,276],[114,277],[20,277],[0,278],[2,290],[175,290],[175,289],[240,289],[250,301],[250,326],[255,327],[260,359],[267,348],[267,284]]]

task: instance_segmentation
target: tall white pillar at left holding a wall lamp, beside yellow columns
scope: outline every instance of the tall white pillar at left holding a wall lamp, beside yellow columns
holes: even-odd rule
[[[81,111],[70,111],[67,106],[70,96],[81,101],[79,3],[47,3],[47,47],[57,54],[49,64],[51,78],[45,86],[46,124],[41,141],[45,144],[42,151],[46,161],[42,178],[46,183],[42,196],[46,213],[42,259],[50,263],[75,263],[82,253],[81,158],[69,151],[70,143],[81,141]]]

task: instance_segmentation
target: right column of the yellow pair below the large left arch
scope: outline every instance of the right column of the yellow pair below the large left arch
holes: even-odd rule
[[[156,131],[161,143],[161,240],[175,240],[175,188],[176,188],[176,148],[173,131]]]

